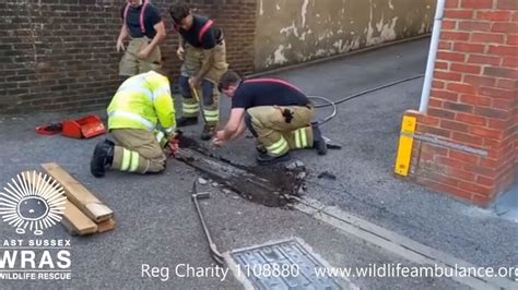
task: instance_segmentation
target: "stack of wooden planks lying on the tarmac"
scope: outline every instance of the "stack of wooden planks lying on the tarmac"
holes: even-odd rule
[[[57,164],[44,164],[47,173],[61,184],[67,196],[61,225],[74,235],[115,228],[114,212]]]

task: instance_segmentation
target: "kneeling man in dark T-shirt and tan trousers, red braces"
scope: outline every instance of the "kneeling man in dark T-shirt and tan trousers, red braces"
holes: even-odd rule
[[[314,105],[293,84],[279,78],[243,81],[235,72],[227,72],[219,89],[232,98],[232,110],[225,129],[216,132],[214,145],[237,138],[248,128],[256,137],[259,165],[286,161],[290,149],[327,153],[318,124],[310,123]]]

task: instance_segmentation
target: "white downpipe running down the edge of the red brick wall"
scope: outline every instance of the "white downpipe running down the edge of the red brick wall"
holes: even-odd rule
[[[434,80],[435,60],[437,58],[437,49],[439,47],[440,28],[443,26],[443,16],[445,12],[446,0],[437,1],[437,9],[435,12],[434,29],[432,33],[432,40],[429,44],[428,62],[426,64],[426,72],[424,75],[423,92],[421,94],[421,102],[419,107],[420,112],[426,112],[428,108],[429,93],[432,89],[432,82]]]

